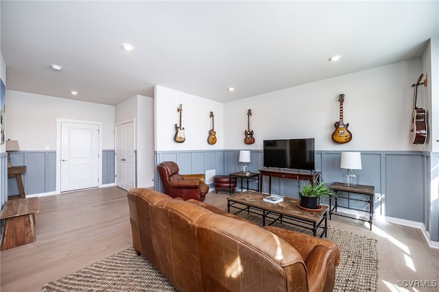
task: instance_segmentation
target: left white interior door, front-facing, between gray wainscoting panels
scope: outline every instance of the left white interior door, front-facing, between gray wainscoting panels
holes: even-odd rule
[[[99,125],[61,123],[60,191],[99,186]]]

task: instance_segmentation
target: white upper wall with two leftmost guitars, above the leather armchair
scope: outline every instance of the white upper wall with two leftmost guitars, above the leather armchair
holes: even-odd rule
[[[156,86],[154,98],[154,119],[156,124],[155,149],[167,150],[205,150],[223,149],[224,140],[229,133],[224,132],[224,104],[204,97],[182,93],[181,91]],[[180,123],[177,108],[182,104],[182,127],[185,128],[186,141],[174,141],[175,124]],[[209,145],[207,138],[211,130],[210,112],[215,116],[217,143]],[[228,117],[227,117],[228,119]]]

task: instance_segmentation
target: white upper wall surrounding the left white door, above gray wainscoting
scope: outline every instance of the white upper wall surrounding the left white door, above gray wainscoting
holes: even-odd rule
[[[6,139],[21,150],[56,150],[56,119],[102,122],[102,149],[115,149],[115,107],[6,90]],[[10,134],[8,134],[10,133]]]

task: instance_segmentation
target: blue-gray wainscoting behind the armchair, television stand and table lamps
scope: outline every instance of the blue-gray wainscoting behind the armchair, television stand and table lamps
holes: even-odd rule
[[[215,169],[217,175],[240,171],[239,149],[219,151],[158,151],[156,165],[166,160],[178,163],[180,173],[205,173]],[[343,182],[344,169],[340,169],[340,151],[316,151],[316,171],[322,180],[331,184]],[[361,151],[362,169],[358,170],[359,183],[375,186],[380,199],[375,201],[375,213],[399,219],[423,222],[425,219],[425,169],[429,153],[420,151]],[[249,170],[263,168],[263,151],[252,150]],[[300,183],[296,180],[272,178],[271,193],[298,198]],[[211,185],[212,186],[212,185]],[[163,191],[156,171],[155,188]],[[257,188],[256,183],[250,188]],[[268,193],[268,178],[263,178],[263,193]],[[355,195],[354,195],[355,196]],[[347,200],[346,200],[347,201]],[[322,202],[328,204],[327,200]],[[340,205],[347,202],[340,199]],[[355,208],[366,210],[367,203],[357,202]]]

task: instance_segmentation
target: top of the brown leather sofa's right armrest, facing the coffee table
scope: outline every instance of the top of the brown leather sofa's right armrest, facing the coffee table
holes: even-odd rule
[[[276,234],[277,236],[281,237],[281,239],[294,246],[305,262],[313,251],[314,247],[323,245],[324,247],[327,247],[327,250],[329,250],[330,254],[333,254],[334,265],[337,266],[340,263],[340,251],[338,250],[337,245],[332,241],[327,239],[319,239],[314,236],[309,236],[307,234],[274,226],[264,226],[264,229]]]

